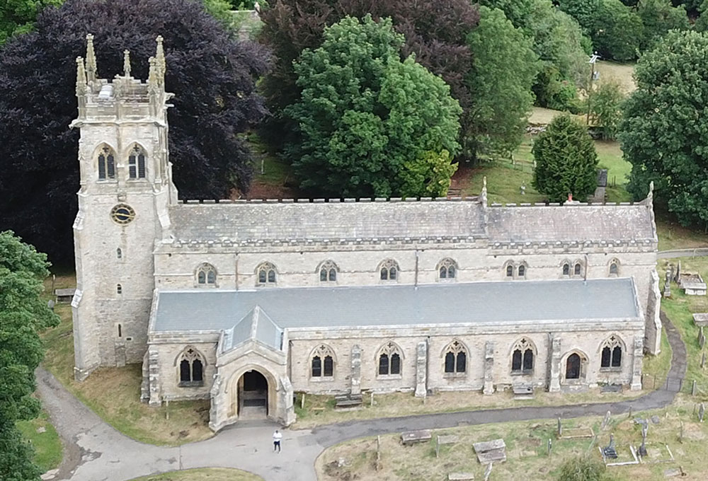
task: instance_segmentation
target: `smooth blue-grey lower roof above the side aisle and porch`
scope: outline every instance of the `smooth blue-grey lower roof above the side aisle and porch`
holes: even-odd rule
[[[426,284],[417,289],[411,285],[202,289],[159,291],[152,330],[231,330],[249,319],[256,306],[280,329],[600,321],[639,315],[628,278]],[[242,334],[232,332],[233,345],[246,330],[241,327],[238,332]],[[270,339],[273,332],[266,326],[263,339]]]

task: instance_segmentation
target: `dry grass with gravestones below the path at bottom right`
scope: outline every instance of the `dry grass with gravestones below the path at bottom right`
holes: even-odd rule
[[[663,410],[634,413],[634,417],[649,418],[657,415],[659,424],[649,423],[647,449],[649,460],[666,453],[668,445],[675,462],[643,463],[607,468],[613,481],[665,479],[664,471],[681,465],[688,477],[681,479],[708,479],[708,422],[699,423],[693,414],[694,403],[690,398],[680,398]],[[445,480],[450,473],[472,473],[474,479],[484,479],[484,467],[476,460],[472,444],[479,441],[504,439],[507,461],[494,463],[491,480],[513,480],[523,473],[530,481],[554,480],[561,463],[567,458],[588,455],[601,460],[598,446],[607,446],[610,433],[614,434],[617,451],[622,458],[629,458],[631,443],[641,444],[641,429],[634,425],[627,414],[613,415],[608,429],[600,431],[603,417],[563,419],[564,429],[592,427],[598,439],[557,439],[556,420],[508,422],[479,426],[455,427],[433,431],[428,443],[402,446],[400,434],[381,436],[381,465],[375,470],[376,438],[357,439],[333,446],[322,453],[316,461],[320,481],[343,479],[377,480]],[[679,441],[680,424],[683,422],[683,443]],[[440,457],[435,456],[435,439],[439,434],[459,436],[457,443],[440,446]],[[547,442],[552,439],[551,454],[547,454]],[[591,443],[593,443],[591,445]],[[343,463],[340,463],[343,460]],[[343,464],[340,466],[340,464]]]

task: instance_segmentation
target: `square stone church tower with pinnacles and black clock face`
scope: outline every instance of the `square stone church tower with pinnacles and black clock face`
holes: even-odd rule
[[[157,37],[147,82],[124,71],[99,79],[93,35],[76,59],[79,212],[74,221],[74,376],[142,361],[154,291],[155,243],[169,237],[177,202],[167,146],[165,57]]]

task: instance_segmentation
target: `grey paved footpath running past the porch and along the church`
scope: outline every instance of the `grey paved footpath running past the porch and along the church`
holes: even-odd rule
[[[673,349],[669,376],[683,378],[686,348],[666,316],[661,319]],[[431,415],[351,421],[312,430],[283,431],[282,453],[273,453],[271,422],[242,422],[192,444],[165,448],[142,444],[120,434],[74,398],[47,371],[38,370],[38,391],[52,424],[64,441],[64,461],[55,480],[127,481],[153,473],[189,468],[239,468],[266,481],[315,481],[314,462],[325,448],[361,436],[411,429],[604,415],[656,409],[673,401],[674,393],[656,390],[641,398],[572,406],[448,412]]]

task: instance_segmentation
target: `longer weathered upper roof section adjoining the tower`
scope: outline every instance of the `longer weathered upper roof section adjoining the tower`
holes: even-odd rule
[[[178,240],[371,239],[484,234],[470,201],[178,204]]]

